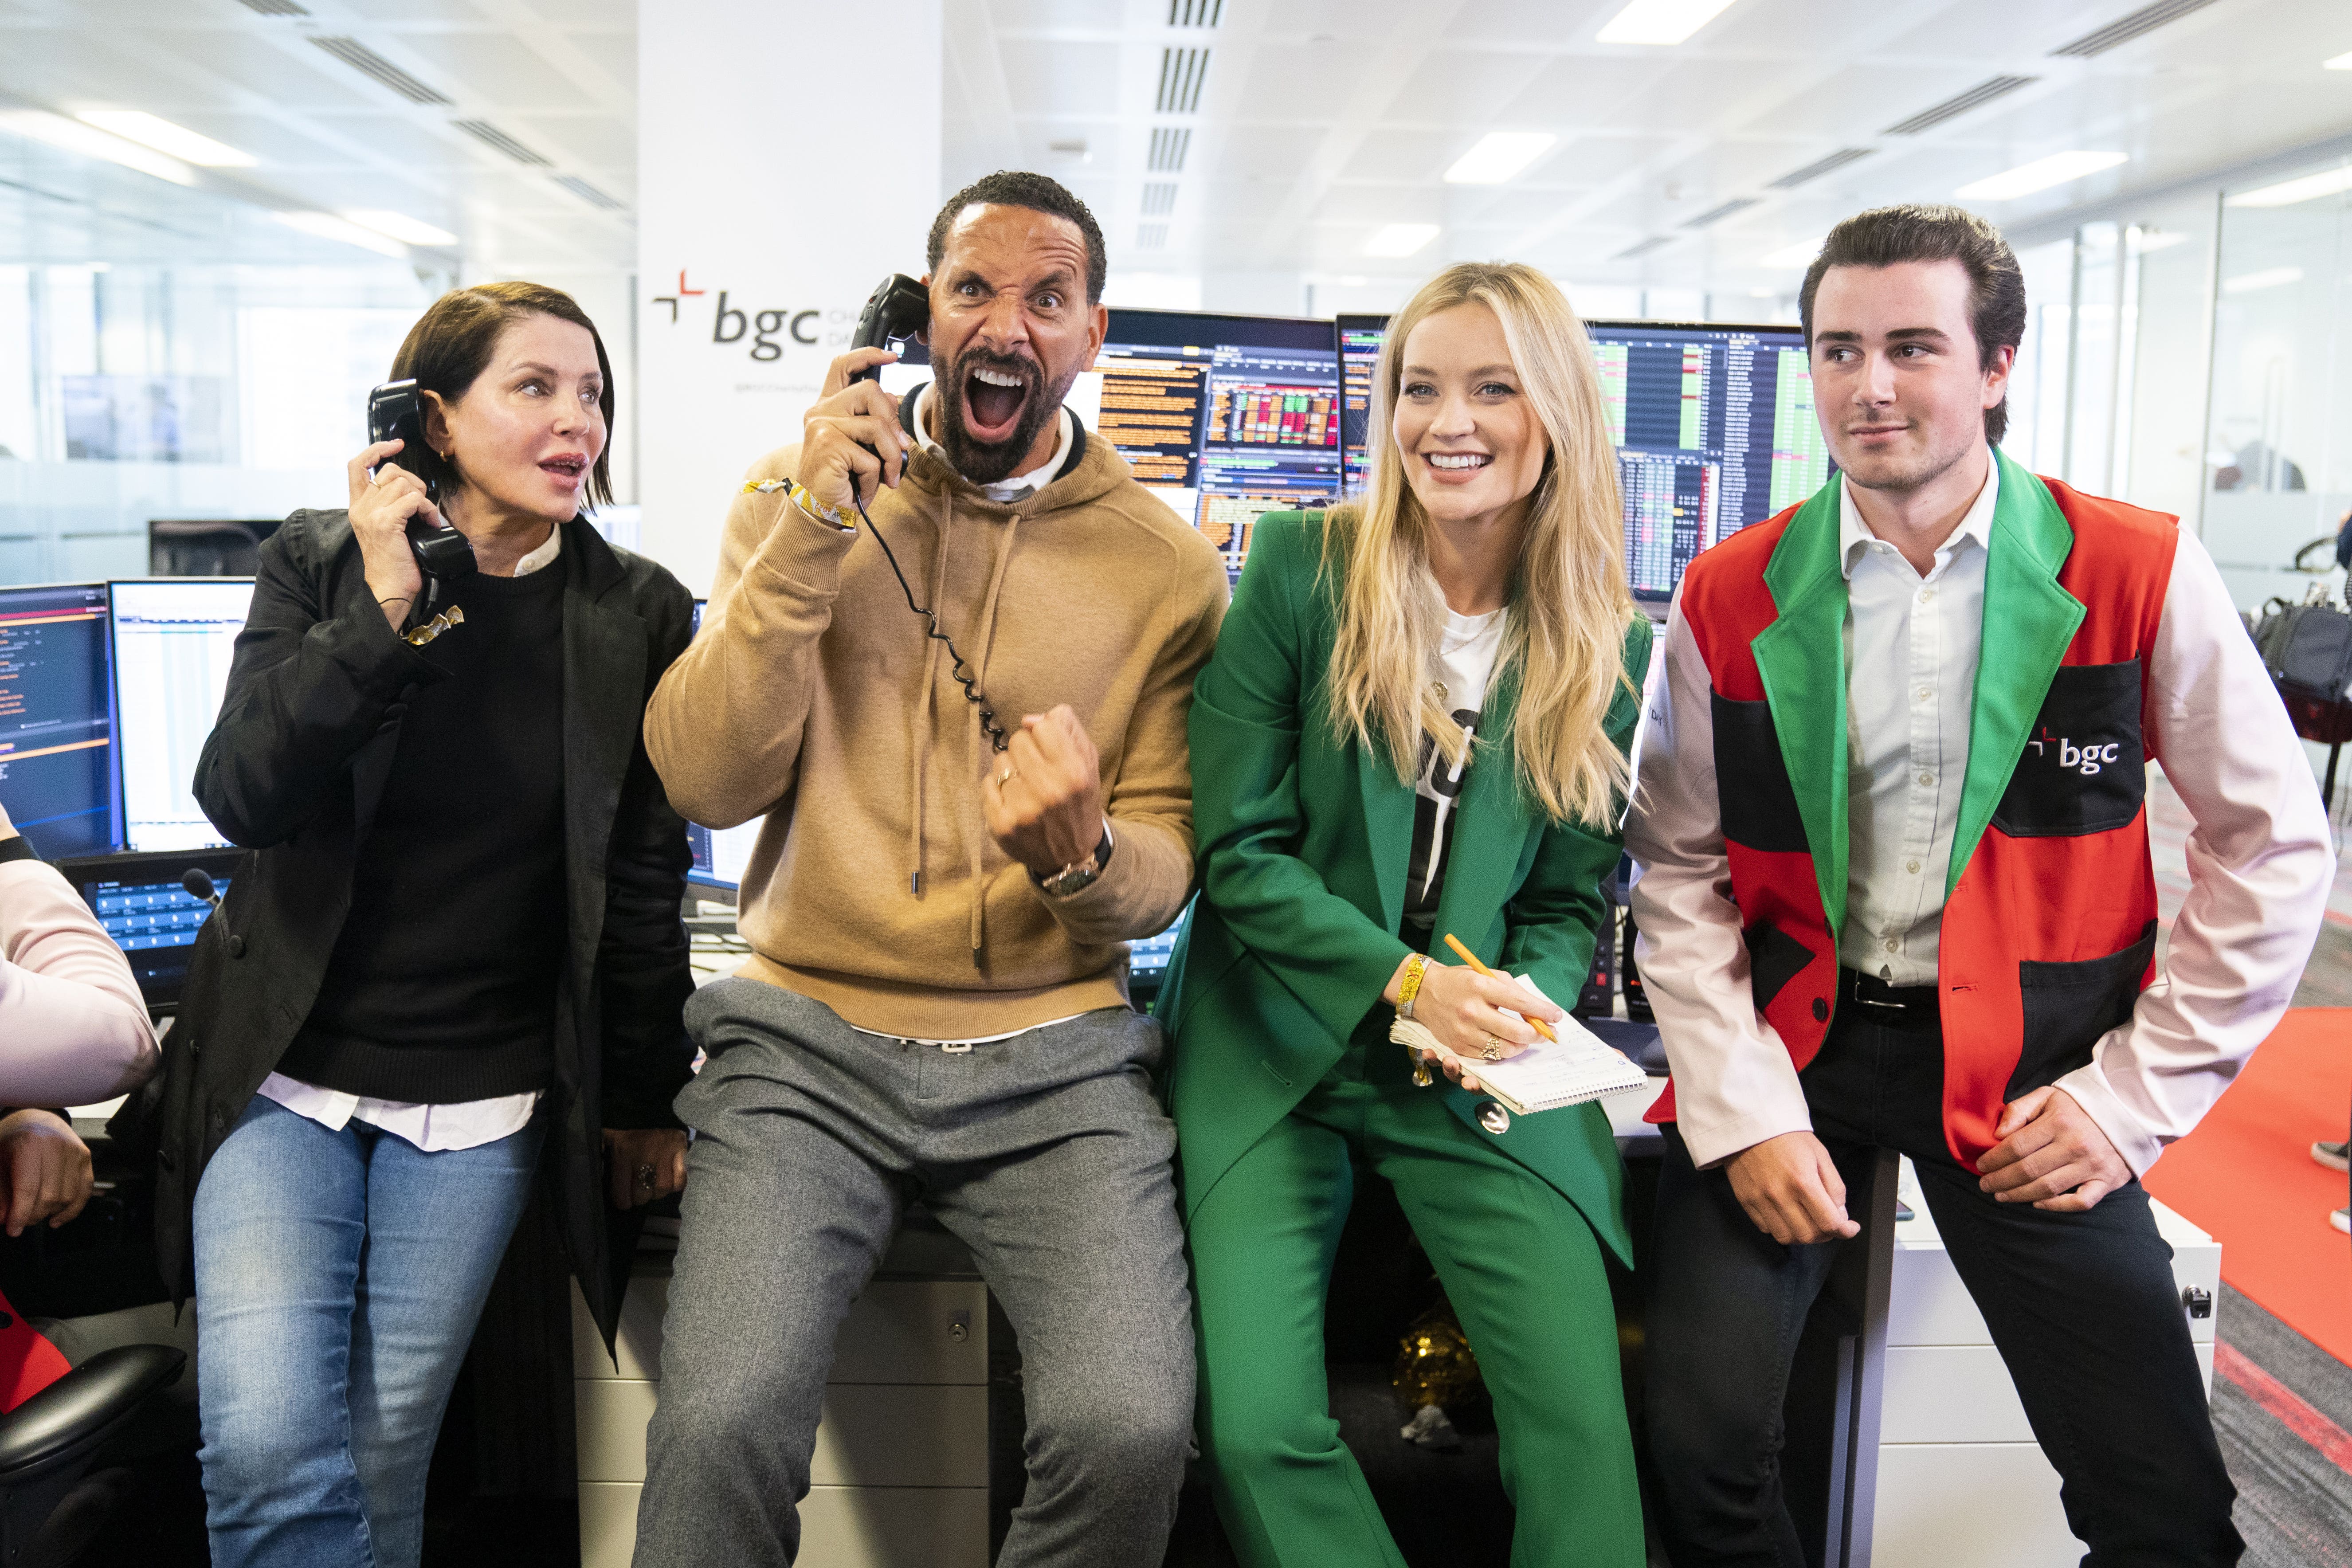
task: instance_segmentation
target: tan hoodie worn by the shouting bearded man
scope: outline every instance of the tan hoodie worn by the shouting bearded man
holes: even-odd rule
[[[797,456],[771,451],[750,484]],[[1167,929],[1192,886],[1185,712],[1225,614],[1221,557],[1091,433],[1014,505],[917,449],[868,510],[997,724],[1077,710],[1117,849],[1082,893],[1040,891],[988,835],[978,710],[882,548],[781,487],[746,487],[703,630],[644,712],[680,813],[767,813],[743,872],[743,973],[917,1039],[1120,1006],[1124,943]]]

